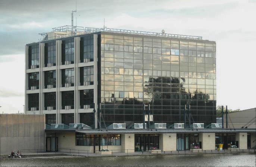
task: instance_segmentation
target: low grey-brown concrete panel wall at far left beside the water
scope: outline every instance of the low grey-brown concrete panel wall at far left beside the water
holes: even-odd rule
[[[11,151],[44,149],[44,115],[0,114],[0,119],[0,153],[10,154]],[[34,137],[35,134],[37,137]]]

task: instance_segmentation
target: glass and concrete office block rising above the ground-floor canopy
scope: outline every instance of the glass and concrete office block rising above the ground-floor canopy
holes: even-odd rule
[[[128,126],[141,123],[143,104],[150,104],[153,121],[169,126],[184,121],[186,104],[191,122],[216,122],[214,41],[115,29],[76,33],[54,29],[26,46],[26,113],[93,125],[93,103],[96,111],[101,103],[106,126]]]

